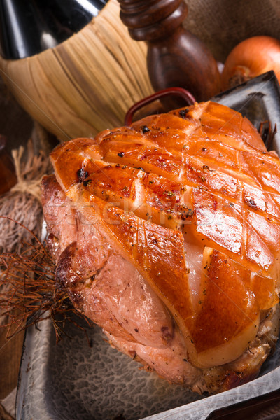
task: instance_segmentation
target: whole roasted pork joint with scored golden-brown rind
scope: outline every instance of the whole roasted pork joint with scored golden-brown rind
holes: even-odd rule
[[[197,392],[250,381],[279,334],[280,160],[226,106],[74,139],[42,182],[57,287],[116,349]]]

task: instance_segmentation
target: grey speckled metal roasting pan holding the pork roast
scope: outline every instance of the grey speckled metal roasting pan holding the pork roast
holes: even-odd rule
[[[280,151],[279,85],[269,71],[213,98],[263,127],[269,148]],[[270,132],[270,134],[269,134]],[[153,372],[111,348],[98,327],[65,325],[67,337],[55,343],[50,321],[25,333],[16,401],[18,420],[206,420],[251,398],[280,388],[280,344],[258,379],[224,393],[196,395],[169,385]]]

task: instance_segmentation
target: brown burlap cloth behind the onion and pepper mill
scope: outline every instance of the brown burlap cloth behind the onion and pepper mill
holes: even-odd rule
[[[199,36],[214,57],[224,62],[245,38],[267,35],[280,38],[279,0],[186,0],[184,25]]]

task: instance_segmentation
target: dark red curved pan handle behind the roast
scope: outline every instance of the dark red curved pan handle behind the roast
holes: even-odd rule
[[[193,105],[196,102],[193,95],[188,90],[183,89],[183,87],[168,87],[167,89],[160,90],[159,92],[155,92],[151,94],[150,96],[144,99],[141,99],[141,101],[136,102],[134,105],[132,105],[125,115],[125,125],[132,124],[132,118],[134,116],[134,113],[139,111],[139,109],[143,108],[143,106],[151,104],[151,102],[156,101],[157,99],[162,99],[163,97],[167,97],[167,96],[182,97],[183,99],[186,99],[186,102],[188,105]]]

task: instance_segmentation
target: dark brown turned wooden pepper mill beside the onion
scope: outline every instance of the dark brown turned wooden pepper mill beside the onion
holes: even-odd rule
[[[200,102],[220,91],[220,73],[206,45],[183,27],[184,0],[118,0],[120,18],[136,41],[148,43],[155,91],[184,87]]]

